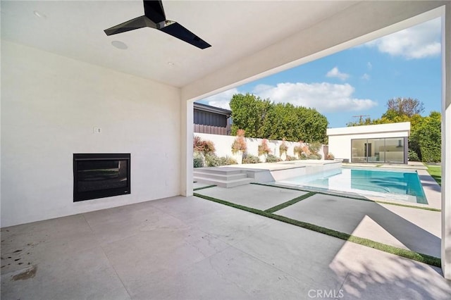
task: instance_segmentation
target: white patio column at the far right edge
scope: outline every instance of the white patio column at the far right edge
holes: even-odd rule
[[[442,19],[442,270],[451,280],[451,4]]]

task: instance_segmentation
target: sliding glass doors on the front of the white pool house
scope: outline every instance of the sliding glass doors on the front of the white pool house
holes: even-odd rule
[[[407,137],[352,139],[352,163],[407,163]]]

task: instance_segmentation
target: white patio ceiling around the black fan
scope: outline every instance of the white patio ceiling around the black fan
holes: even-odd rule
[[[142,1],[1,1],[1,38],[183,87],[356,2],[163,1],[169,20],[212,45],[201,50],[151,28],[104,34],[143,15]],[[128,49],[115,48],[113,41]]]

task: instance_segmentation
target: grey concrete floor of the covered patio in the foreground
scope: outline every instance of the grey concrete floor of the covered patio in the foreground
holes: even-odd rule
[[[1,299],[309,299],[326,292],[449,299],[451,283],[440,268],[194,196],[1,229]]]

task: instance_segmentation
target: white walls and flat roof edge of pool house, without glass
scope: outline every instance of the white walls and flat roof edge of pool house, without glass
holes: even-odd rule
[[[410,122],[328,128],[327,135],[329,138],[329,152],[333,154],[335,158],[352,162],[353,139],[385,139],[409,137]],[[407,148],[407,143],[404,143],[404,146]],[[404,151],[404,153],[407,153],[407,149]],[[388,159],[388,156],[386,157]],[[384,162],[383,157],[381,157],[381,162]],[[407,157],[405,158],[404,162],[407,163]]]

